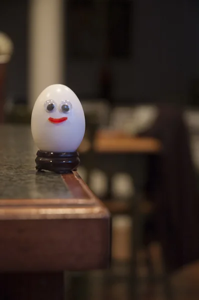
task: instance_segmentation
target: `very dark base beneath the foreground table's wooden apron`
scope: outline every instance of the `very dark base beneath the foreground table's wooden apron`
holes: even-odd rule
[[[0,274],[0,299],[63,300],[63,272]]]

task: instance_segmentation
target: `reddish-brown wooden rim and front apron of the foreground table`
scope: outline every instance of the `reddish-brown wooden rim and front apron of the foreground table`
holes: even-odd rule
[[[77,172],[62,178],[73,198],[0,200],[1,271],[108,267],[108,210]]]

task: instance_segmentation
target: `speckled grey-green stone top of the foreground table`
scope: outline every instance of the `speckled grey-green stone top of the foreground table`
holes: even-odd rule
[[[30,126],[0,125],[0,199],[72,197],[59,174],[37,172]]]

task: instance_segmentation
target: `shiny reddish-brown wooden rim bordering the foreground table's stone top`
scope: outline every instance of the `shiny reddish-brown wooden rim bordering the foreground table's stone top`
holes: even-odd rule
[[[61,176],[74,198],[1,199],[0,220],[110,217],[107,208],[76,171]]]

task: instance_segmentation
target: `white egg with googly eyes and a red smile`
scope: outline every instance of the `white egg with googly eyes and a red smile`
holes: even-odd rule
[[[32,137],[41,151],[73,152],[85,132],[81,103],[67,86],[46,87],[34,103],[31,115]]]

